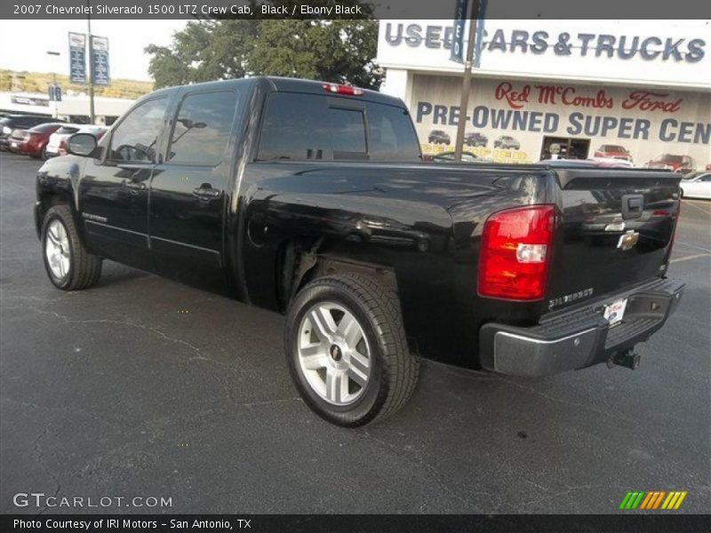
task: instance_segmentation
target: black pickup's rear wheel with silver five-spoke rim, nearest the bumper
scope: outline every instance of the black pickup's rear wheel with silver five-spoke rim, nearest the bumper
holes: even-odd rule
[[[308,283],[296,295],[284,336],[292,380],[318,416],[363,426],[395,413],[417,383],[395,290],[363,274]]]

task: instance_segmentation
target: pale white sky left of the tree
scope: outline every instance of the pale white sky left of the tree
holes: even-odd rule
[[[171,44],[187,20],[92,20],[92,34],[108,37],[112,78],[152,81],[143,52]],[[86,33],[86,20],[0,20],[0,68],[69,74],[68,32]],[[16,51],[16,53],[9,52]],[[47,51],[60,52],[60,57]]]

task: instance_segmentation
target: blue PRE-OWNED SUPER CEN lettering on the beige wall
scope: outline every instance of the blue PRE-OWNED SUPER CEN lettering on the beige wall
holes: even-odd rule
[[[415,121],[417,123],[427,122],[444,126],[456,126],[459,123],[459,106],[443,106],[419,101],[416,109]],[[541,111],[476,106],[472,109],[471,115],[467,116],[467,123],[479,130],[555,133],[559,131],[560,115]],[[613,139],[646,140],[650,139],[650,131],[651,121],[646,118],[585,115],[579,111],[568,115],[568,123],[565,126],[565,133],[570,136]],[[709,144],[711,123],[680,123],[675,118],[666,118],[659,123],[658,137],[662,142]]]

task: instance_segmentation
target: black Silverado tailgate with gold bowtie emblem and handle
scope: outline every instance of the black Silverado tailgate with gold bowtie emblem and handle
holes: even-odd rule
[[[559,170],[562,220],[547,305],[557,310],[666,274],[679,181],[672,172]]]

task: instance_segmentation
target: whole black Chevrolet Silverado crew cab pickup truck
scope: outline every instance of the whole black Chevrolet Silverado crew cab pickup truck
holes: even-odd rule
[[[403,102],[255,77],[156,91],[36,181],[54,285],[111,259],[287,315],[292,378],[341,426],[409,398],[416,354],[541,376],[635,368],[675,310],[679,179],[427,164]]]

